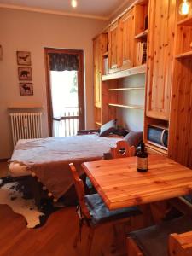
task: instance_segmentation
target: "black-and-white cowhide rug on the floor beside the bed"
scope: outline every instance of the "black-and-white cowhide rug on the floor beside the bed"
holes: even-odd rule
[[[49,214],[64,207],[54,207],[52,203],[44,206],[41,212],[35,205],[33,199],[23,198],[22,187],[17,182],[9,182],[5,179],[0,179],[0,204],[6,204],[16,213],[20,213],[26,218],[28,228],[37,228],[42,226],[49,218]]]

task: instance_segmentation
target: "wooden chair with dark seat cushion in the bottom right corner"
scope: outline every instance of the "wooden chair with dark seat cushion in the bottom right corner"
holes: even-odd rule
[[[192,255],[190,230],[192,230],[192,219],[183,216],[133,231],[127,238],[127,254],[128,256]]]

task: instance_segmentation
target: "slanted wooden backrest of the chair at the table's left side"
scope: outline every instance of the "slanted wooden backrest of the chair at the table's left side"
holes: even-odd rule
[[[77,172],[73,163],[70,163],[69,166],[70,166],[70,169],[72,172],[73,183],[74,183],[77,195],[78,195],[79,206],[81,208],[81,212],[85,218],[90,219],[91,218],[90,212],[89,212],[89,209],[86,206],[85,201],[84,201],[84,183],[83,183],[82,179],[79,177],[79,173]]]

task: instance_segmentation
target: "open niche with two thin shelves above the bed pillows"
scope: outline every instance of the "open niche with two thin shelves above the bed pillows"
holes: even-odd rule
[[[102,82],[102,124],[118,119],[132,131],[143,131],[145,74]]]

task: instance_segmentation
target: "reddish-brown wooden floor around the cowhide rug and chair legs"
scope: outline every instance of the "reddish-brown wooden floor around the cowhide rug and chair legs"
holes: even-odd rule
[[[1,163],[0,175],[6,172]],[[84,253],[87,230],[83,230],[82,242],[78,249],[73,249],[73,238],[79,228],[79,220],[74,207],[67,207],[54,212],[43,227],[26,228],[25,218],[7,205],[0,202],[0,256],[86,256]],[[125,238],[125,232],[121,233]],[[119,235],[118,235],[119,236]],[[114,252],[113,229],[105,225],[96,230],[91,255],[125,255],[125,240]],[[122,253],[123,252],[123,253]]]

